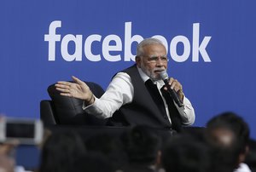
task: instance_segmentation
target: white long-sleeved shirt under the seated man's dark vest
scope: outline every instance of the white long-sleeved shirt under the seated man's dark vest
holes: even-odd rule
[[[140,72],[140,75],[143,80],[149,78],[146,77],[143,72]],[[95,97],[95,102],[90,106],[83,106],[83,109],[85,112],[93,114],[98,118],[110,118],[113,112],[119,110],[121,106],[131,103],[133,95],[134,87],[131,83],[131,77],[125,72],[119,72],[113,77],[111,83],[109,83],[105,94],[102,95],[100,99]],[[183,107],[178,107],[175,104],[183,120],[182,123],[185,125],[193,124],[195,122],[195,111],[190,101],[185,96],[183,98],[183,104]],[[167,105],[166,111],[171,122]]]

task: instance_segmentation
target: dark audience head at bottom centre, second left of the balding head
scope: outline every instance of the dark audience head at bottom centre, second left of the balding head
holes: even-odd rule
[[[125,172],[153,172],[160,164],[161,140],[152,129],[136,126],[122,135],[128,164]]]

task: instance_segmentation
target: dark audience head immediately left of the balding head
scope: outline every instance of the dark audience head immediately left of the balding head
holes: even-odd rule
[[[162,149],[161,163],[166,172],[207,172],[207,146],[192,135],[173,135]]]

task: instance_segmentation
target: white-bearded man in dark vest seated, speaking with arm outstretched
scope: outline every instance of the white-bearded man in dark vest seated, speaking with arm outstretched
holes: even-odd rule
[[[160,72],[167,69],[167,62],[163,43],[158,39],[148,38],[137,46],[136,65],[117,73],[100,99],[77,77],[73,77],[75,83],[58,82],[55,87],[61,91],[61,95],[84,100],[85,112],[100,118],[110,118],[110,125],[144,124],[178,130],[181,129],[181,124],[194,123],[195,112],[183,95],[181,83],[172,77],[169,87],[177,92],[183,106],[177,106],[170,95],[163,97],[167,89],[162,93],[160,91],[165,85],[160,78]],[[154,92],[155,86],[157,93]]]

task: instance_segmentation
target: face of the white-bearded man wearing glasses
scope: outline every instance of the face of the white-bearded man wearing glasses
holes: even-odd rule
[[[143,47],[143,55],[136,58],[137,66],[153,80],[160,80],[160,72],[167,69],[166,48],[161,44]]]

